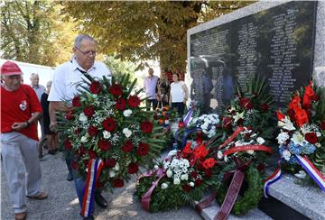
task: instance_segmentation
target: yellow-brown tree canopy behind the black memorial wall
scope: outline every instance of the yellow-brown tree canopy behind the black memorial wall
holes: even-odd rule
[[[161,69],[184,71],[187,30],[239,7],[245,1],[62,2],[63,14],[98,39],[103,53],[142,61],[159,60]]]

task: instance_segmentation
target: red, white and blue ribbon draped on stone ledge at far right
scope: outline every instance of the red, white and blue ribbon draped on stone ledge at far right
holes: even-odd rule
[[[320,186],[321,190],[325,192],[325,177],[320,173],[320,170],[317,170],[315,166],[311,163],[311,160],[309,160],[306,156],[294,156],[299,162],[299,164],[302,166],[302,168],[306,170],[307,173],[311,176],[311,179],[313,179],[317,183],[317,185]]]

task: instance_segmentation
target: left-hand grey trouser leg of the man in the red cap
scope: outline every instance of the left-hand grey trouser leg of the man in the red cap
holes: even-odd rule
[[[19,145],[20,135],[22,134],[1,133],[1,155],[10,197],[14,203],[14,213],[26,212],[25,172]]]

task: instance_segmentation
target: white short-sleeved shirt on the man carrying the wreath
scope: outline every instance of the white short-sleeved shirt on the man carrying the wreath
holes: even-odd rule
[[[75,57],[55,69],[48,101],[71,100],[78,94],[77,85],[82,81],[82,78],[85,78],[79,69],[85,71],[79,66]],[[111,72],[107,69],[107,66],[99,61],[95,61],[87,72],[93,78],[111,77]]]

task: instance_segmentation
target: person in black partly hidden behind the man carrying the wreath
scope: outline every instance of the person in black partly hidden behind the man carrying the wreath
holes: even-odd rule
[[[46,91],[42,94],[41,97],[41,105],[43,111],[43,124],[44,124],[44,134],[46,135],[46,139],[48,142],[48,153],[55,154],[59,148],[59,136],[57,133],[51,132],[50,130],[50,113],[49,113],[49,105],[50,102],[47,100],[50,90],[51,90],[52,81],[48,81],[46,83]]]

